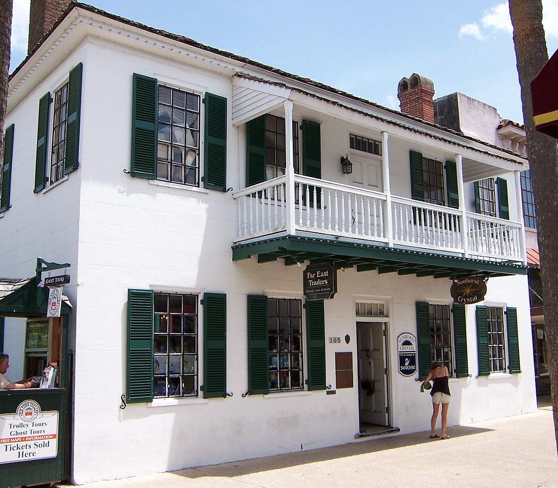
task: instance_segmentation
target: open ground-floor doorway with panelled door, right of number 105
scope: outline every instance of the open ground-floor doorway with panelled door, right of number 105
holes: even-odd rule
[[[387,426],[386,324],[357,322],[358,403],[361,423]]]

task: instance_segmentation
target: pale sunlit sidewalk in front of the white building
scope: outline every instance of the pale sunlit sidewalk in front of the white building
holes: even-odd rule
[[[558,488],[550,402],[537,412],[83,488]],[[62,486],[62,485],[60,485]]]

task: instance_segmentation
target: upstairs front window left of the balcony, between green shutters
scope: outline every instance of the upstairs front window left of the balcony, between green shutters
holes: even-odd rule
[[[157,180],[199,185],[200,96],[159,85]]]

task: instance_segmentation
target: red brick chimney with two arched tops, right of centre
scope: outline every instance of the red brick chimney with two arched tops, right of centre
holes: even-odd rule
[[[434,124],[434,83],[429,78],[413,73],[402,78],[397,86],[401,112]]]

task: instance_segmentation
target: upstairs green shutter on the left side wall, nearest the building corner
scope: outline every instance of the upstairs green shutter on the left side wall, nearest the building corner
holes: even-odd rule
[[[79,166],[79,119],[81,113],[81,63],[70,71],[68,81],[68,120],[66,121],[66,155],[64,174],[68,175]]]

